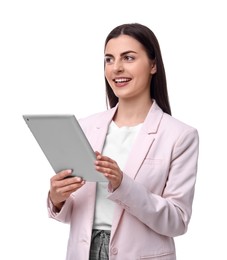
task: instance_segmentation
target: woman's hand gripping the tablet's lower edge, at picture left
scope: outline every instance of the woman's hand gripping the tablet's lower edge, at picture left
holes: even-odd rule
[[[71,177],[72,170],[64,170],[50,179],[50,200],[60,210],[71,193],[81,188],[85,181],[80,177]]]

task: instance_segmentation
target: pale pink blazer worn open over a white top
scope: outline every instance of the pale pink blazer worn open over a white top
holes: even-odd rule
[[[95,151],[102,152],[117,106],[80,120]],[[173,237],[192,214],[199,137],[195,128],[164,113],[154,101],[129,154],[115,202],[110,260],[175,260]],[[49,217],[70,223],[67,260],[88,260],[96,183],[72,193],[60,212],[48,198]]]

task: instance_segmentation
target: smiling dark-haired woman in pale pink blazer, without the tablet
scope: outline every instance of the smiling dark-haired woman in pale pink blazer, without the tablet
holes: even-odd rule
[[[109,109],[80,120],[108,182],[65,170],[51,178],[49,215],[70,223],[67,260],[176,259],[192,213],[197,130],[171,116],[158,41],[141,24],[105,42]]]

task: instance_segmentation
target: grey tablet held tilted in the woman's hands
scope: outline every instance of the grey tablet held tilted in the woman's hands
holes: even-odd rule
[[[107,181],[95,170],[95,153],[74,115],[23,115],[55,173],[72,169],[88,182]]]

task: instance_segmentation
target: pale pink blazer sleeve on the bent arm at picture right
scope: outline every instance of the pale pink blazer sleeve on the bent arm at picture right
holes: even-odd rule
[[[161,195],[124,174],[121,185],[108,198],[159,234],[170,237],[184,234],[192,213],[198,147],[196,129],[187,129],[180,135],[173,147]]]

